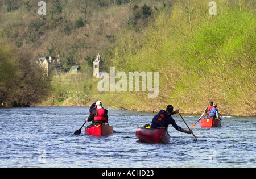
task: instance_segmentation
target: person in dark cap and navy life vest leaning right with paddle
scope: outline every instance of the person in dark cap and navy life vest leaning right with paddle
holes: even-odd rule
[[[175,120],[172,119],[172,116],[171,116],[171,115],[174,115],[176,113],[179,113],[179,109],[174,111],[174,107],[172,105],[168,105],[167,108],[166,108],[166,111],[160,110],[158,115],[154,116],[154,118],[151,122],[152,123],[151,128],[158,128],[158,127],[168,128],[168,126],[170,124],[172,124],[172,126],[180,132],[184,132],[184,133],[187,133],[187,134],[193,133],[192,130],[187,131],[187,130],[184,130],[184,128],[177,126]]]

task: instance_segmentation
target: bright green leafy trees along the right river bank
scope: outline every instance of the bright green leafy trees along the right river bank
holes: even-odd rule
[[[209,101],[222,114],[256,115],[255,15],[252,1],[179,1],[155,15],[142,32],[118,36],[110,59],[116,71],[159,71],[159,97],[118,93],[113,99],[131,110],[158,111],[171,103],[201,113]]]

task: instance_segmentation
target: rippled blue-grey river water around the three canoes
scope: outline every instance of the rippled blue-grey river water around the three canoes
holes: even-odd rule
[[[170,126],[168,144],[142,143],[138,126],[155,114],[109,110],[110,136],[73,135],[89,107],[0,109],[0,167],[255,167],[256,118],[224,116],[221,128]],[[176,123],[187,128],[178,115]],[[199,116],[184,115],[188,125]]]

